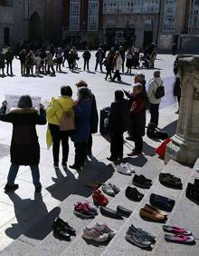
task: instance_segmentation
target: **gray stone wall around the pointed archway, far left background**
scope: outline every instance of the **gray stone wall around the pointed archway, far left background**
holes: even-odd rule
[[[43,23],[43,39],[60,40],[62,0],[29,0],[29,18],[35,12]],[[22,43],[29,38],[29,20],[24,19],[24,0],[15,0],[13,7],[0,6],[0,17],[0,47],[4,44],[5,27],[10,29],[11,45]]]

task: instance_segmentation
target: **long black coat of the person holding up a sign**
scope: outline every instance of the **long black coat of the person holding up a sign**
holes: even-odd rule
[[[45,111],[40,114],[34,109],[13,109],[5,114],[6,108],[0,109],[0,120],[13,123],[11,142],[11,162],[19,165],[36,165],[40,162],[40,145],[36,133],[36,124],[45,124]]]

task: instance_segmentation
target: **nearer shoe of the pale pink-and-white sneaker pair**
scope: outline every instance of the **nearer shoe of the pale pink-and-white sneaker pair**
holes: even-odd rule
[[[109,234],[108,233],[102,233],[101,231],[98,231],[96,228],[84,228],[82,237],[87,240],[92,241],[108,241],[109,240]]]

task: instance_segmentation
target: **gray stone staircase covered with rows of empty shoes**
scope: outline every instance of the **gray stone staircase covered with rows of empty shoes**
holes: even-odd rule
[[[197,162],[199,164],[199,161]],[[136,165],[136,164],[135,164]],[[196,166],[196,164],[195,164]],[[135,166],[136,167],[136,166]],[[109,197],[109,208],[116,209],[118,204],[133,211],[129,218],[115,220],[99,214],[93,220],[82,220],[76,217],[73,212],[75,202],[85,201],[88,194],[71,194],[60,205],[44,216],[39,222],[33,225],[24,235],[21,235],[12,244],[0,252],[0,255],[9,256],[37,256],[37,255],[198,255],[198,245],[193,247],[169,244],[164,240],[162,224],[156,222],[146,222],[139,217],[139,209],[149,202],[149,196],[152,192],[165,195],[175,199],[175,208],[168,214],[166,223],[176,224],[186,227],[193,231],[196,236],[199,234],[199,206],[185,198],[185,188],[187,182],[192,182],[194,177],[199,174],[187,166],[177,162],[170,161],[167,165],[156,156],[143,167],[136,167],[137,173],[142,173],[147,178],[152,179],[153,185],[149,190],[138,189],[145,194],[141,202],[129,201],[125,196],[125,190],[132,184],[133,176],[125,176],[114,172],[107,182],[113,182],[121,188],[121,192],[114,198]],[[170,172],[182,179],[183,190],[174,190],[166,188],[158,182],[160,172]],[[91,178],[91,177],[90,177]],[[62,189],[66,189],[62,187]],[[91,196],[86,199],[92,202]],[[191,210],[191,211],[189,211]],[[60,241],[55,239],[51,227],[52,220],[59,214],[63,220],[67,220],[77,231],[76,237],[71,237],[71,241]],[[92,226],[96,222],[107,222],[109,227],[118,231],[117,235],[109,241],[99,245],[95,242],[88,242],[82,239],[82,230],[85,226]],[[195,224],[193,223],[195,222]],[[140,248],[128,243],[125,240],[125,233],[128,226],[134,224],[146,231],[156,234],[156,244],[152,251],[143,251]],[[175,251],[175,252],[174,252]],[[186,254],[184,254],[186,252]]]

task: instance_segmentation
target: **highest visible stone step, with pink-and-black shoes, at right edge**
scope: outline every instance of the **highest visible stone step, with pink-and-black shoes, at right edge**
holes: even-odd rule
[[[194,172],[188,179],[188,182],[193,183],[194,179],[199,179],[199,173],[195,172],[196,166],[199,165],[199,159],[194,165]],[[186,186],[185,186],[186,188]],[[196,244],[194,246],[187,246],[184,244],[177,244],[172,242],[166,242],[164,239],[164,231],[160,232],[159,240],[156,242],[155,250],[153,255],[192,255],[197,256],[199,254],[199,206],[198,204],[190,201],[185,197],[185,190],[181,194],[179,203],[175,207],[175,212],[172,214],[171,218],[167,222],[168,225],[176,225],[183,227],[187,230],[192,231],[194,238],[196,239]]]

